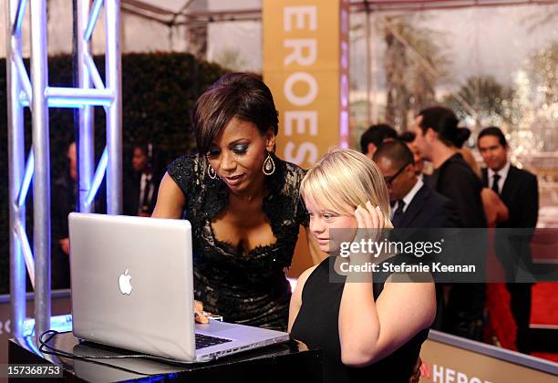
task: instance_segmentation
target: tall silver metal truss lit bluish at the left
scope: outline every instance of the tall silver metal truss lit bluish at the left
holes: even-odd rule
[[[78,211],[92,212],[105,173],[107,212],[122,206],[122,102],[119,0],[78,0],[78,88],[48,86],[47,1],[29,0],[31,79],[22,58],[27,0],[5,1],[8,164],[10,211],[10,300],[12,332],[23,335],[26,318],[26,270],[35,290],[36,334],[50,327],[50,152],[48,109],[79,109]],[[105,79],[90,50],[93,29],[104,5]],[[94,171],[93,108],[107,113],[107,147]],[[31,109],[33,145],[26,155],[24,108]],[[26,196],[33,178],[33,253],[26,235]]]

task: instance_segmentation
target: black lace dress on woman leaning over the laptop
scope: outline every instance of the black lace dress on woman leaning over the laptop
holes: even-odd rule
[[[207,173],[208,161],[199,154],[174,160],[167,171],[186,197],[185,218],[192,226],[194,294],[203,308],[227,322],[284,330],[291,287],[284,268],[291,265],[300,225],[308,213],[298,198],[305,171],[273,157],[275,172],[265,177],[269,194],[262,210],[277,239],[271,245],[241,253],[218,241],[212,220],[228,203],[228,187]]]

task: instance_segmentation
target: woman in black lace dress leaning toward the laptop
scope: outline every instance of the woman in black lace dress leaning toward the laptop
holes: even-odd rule
[[[284,269],[308,213],[298,196],[305,171],[274,155],[272,93],[253,75],[225,75],[198,99],[192,123],[198,151],[169,165],[153,217],[181,218],[185,210],[192,225],[198,320],[207,321],[205,309],[284,330],[291,298]]]

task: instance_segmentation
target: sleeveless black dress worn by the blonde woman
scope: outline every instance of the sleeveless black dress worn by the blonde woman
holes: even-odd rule
[[[338,318],[344,283],[330,282],[330,259],[326,258],[308,276],[302,292],[302,305],[291,337],[301,340],[308,347],[322,348],[324,352],[324,382],[408,382],[417,363],[420,346],[429,335],[429,330],[420,331],[405,345],[391,355],[367,367],[347,367],[341,363]],[[337,275],[336,275],[337,276]],[[387,275],[382,275],[382,278]],[[341,281],[344,280],[340,277]],[[384,285],[374,283],[374,299]],[[357,311],[356,311],[357,313]]]

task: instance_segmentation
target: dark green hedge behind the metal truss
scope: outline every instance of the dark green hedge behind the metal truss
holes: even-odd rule
[[[104,78],[104,57],[95,57]],[[28,61],[26,61],[28,68]],[[72,57],[50,57],[49,84],[72,86]],[[159,153],[160,165],[195,143],[191,137],[190,112],[202,91],[225,71],[222,67],[196,60],[189,54],[130,54],[122,57],[123,163],[129,167],[133,145],[150,141]],[[26,151],[31,145],[31,117],[26,110]],[[0,59],[0,294],[9,286],[7,106],[5,59]],[[105,146],[105,111],[95,109],[97,157]],[[50,109],[51,180],[66,169],[67,144],[74,139],[73,109]],[[27,198],[27,230],[32,230],[32,196]]]

